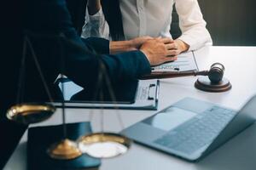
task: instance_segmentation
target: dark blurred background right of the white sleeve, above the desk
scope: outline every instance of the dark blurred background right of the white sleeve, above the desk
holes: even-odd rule
[[[256,45],[255,0],[198,0],[213,45]]]

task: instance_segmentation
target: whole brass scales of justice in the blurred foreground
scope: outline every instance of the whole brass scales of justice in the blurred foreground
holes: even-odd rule
[[[38,35],[32,32],[27,32],[30,36],[33,37],[44,37],[45,35]],[[61,41],[69,42],[71,45],[78,48],[78,50],[84,50],[84,48],[78,46],[74,42],[68,40],[63,34],[50,36],[52,38],[58,38],[60,45]],[[24,76],[25,76],[25,66],[26,66],[26,50],[29,48],[31,50],[32,59],[38,69],[39,76],[44,84],[44,88],[46,94],[49,97],[49,102],[41,102],[41,103],[22,103],[21,101],[21,94],[22,94],[22,87],[24,84]],[[63,49],[62,49],[63,50]],[[62,54],[63,52],[61,52]],[[63,56],[61,56],[63,57]],[[63,58],[62,58],[63,59]],[[63,66],[63,65],[62,65]],[[63,69],[63,68],[62,68]],[[115,97],[113,94],[113,89],[111,87],[111,83],[108,78],[108,74],[106,73],[105,65],[100,63],[100,71],[99,71],[99,81],[98,87],[100,88],[103,78],[108,85],[108,90],[111,95],[113,101],[115,101]],[[61,75],[63,77],[63,75]],[[22,124],[31,124],[37,122],[43,122],[49,119],[52,116],[56,108],[52,104],[53,99],[51,94],[49,93],[49,87],[47,86],[43,72],[41,71],[41,67],[38,63],[38,58],[34,49],[32,48],[32,42],[30,41],[29,37],[26,35],[24,38],[24,47],[23,47],[23,55],[21,59],[21,66],[20,66],[20,76],[19,76],[19,84],[18,84],[18,94],[17,94],[17,104],[13,105],[7,111],[7,117],[11,121],[19,122]],[[64,94],[64,85],[61,83],[62,94]],[[102,90],[100,92],[102,97]],[[131,146],[131,139],[125,137],[125,135],[119,133],[105,133],[103,132],[103,125],[102,125],[102,132],[99,133],[90,133],[89,135],[84,135],[73,141],[71,139],[67,139],[67,127],[66,127],[66,113],[65,113],[65,102],[64,99],[61,100],[61,113],[62,113],[62,128],[63,128],[63,139],[61,141],[56,141],[55,144],[49,145],[48,150],[45,150],[48,155],[52,159],[57,160],[71,160],[75,159],[82,154],[88,154],[89,156],[96,157],[96,158],[111,158],[115,156],[120,156],[125,154]],[[118,109],[118,108],[116,108]],[[102,108],[103,110],[103,108]],[[101,111],[102,111],[101,110]],[[101,113],[102,116],[103,112]],[[118,115],[119,116],[119,115]],[[103,117],[103,116],[102,116]],[[121,123],[121,118],[119,116],[119,121]],[[102,121],[103,122],[103,121]]]

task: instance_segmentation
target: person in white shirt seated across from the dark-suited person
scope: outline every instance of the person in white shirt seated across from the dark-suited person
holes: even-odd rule
[[[175,3],[182,35],[173,41],[177,54],[212,45],[197,0],[88,0],[82,37],[104,37],[143,43],[170,37]],[[148,36],[148,37],[145,37]]]

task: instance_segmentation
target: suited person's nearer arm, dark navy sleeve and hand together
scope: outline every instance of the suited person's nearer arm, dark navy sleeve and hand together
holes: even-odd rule
[[[99,71],[98,61],[100,59],[108,69],[108,75],[113,83],[118,83],[126,79],[137,79],[151,72],[150,65],[160,65],[167,61],[177,59],[177,57],[170,57],[177,55],[173,50],[170,50],[173,48],[172,42],[170,38],[151,39],[143,43],[140,50],[101,56],[75,50],[72,54],[67,54],[68,60],[66,63],[69,66],[65,75],[71,77],[74,82],[77,82],[83,87],[93,88],[97,82]],[[104,47],[108,47],[108,41],[105,40],[101,43],[105,43]],[[69,45],[66,49],[70,47]],[[85,80],[84,77],[86,77]]]

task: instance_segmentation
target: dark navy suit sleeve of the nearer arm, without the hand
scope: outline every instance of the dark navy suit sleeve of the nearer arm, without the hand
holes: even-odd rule
[[[88,40],[87,40],[88,41]],[[98,74],[100,71],[100,63],[102,62],[113,83],[117,83],[129,79],[137,79],[144,74],[151,72],[151,67],[146,56],[140,51],[131,51],[121,54],[95,54],[88,50],[88,48],[100,48],[92,44],[100,44],[102,53],[109,51],[108,40],[102,38],[90,39],[90,41],[79,44],[82,50],[73,44],[65,44],[65,72],[73,82],[86,88],[93,88],[98,81]],[[85,47],[84,47],[85,46]],[[90,47],[89,47],[90,46]]]

